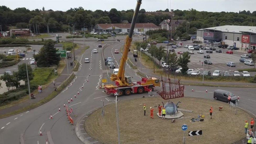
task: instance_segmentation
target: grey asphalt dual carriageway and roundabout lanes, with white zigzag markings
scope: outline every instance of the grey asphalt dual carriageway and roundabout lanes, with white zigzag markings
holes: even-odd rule
[[[83,43],[82,41],[79,42]],[[24,113],[0,119],[0,144],[19,143],[23,138],[24,143],[26,144],[42,144],[45,143],[47,139],[50,140],[51,138],[55,144],[82,143],[75,134],[75,126],[68,124],[63,103],[67,104],[68,99],[71,97],[73,98],[73,102],[68,105],[73,108],[74,113],[77,115],[77,117],[72,115],[74,123],[76,123],[85,114],[96,108],[100,108],[102,106],[102,100],[105,100],[106,104],[114,102],[115,97],[113,95],[106,95],[102,93],[102,89],[99,89],[101,79],[111,73],[110,70],[108,70],[109,73],[106,73],[104,70],[105,66],[103,56],[113,57],[116,60],[116,66],[118,67],[117,64],[121,58],[121,54],[114,54],[113,50],[120,49],[120,47],[124,45],[124,41],[104,42],[103,48],[98,48],[98,42],[86,42],[86,44],[89,45],[90,48],[87,49],[83,55],[78,57],[81,65],[76,73],[76,77],[67,88],[44,105]],[[93,54],[93,49],[98,49],[98,53]],[[103,49],[104,52],[102,51]],[[132,57],[132,55],[129,57]],[[90,63],[84,63],[84,58],[90,58]],[[134,81],[141,79],[128,65],[126,65],[125,70],[125,74],[127,76],[131,76]],[[82,86],[84,88],[82,88]],[[235,95],[239,95],[239,97],[241,97],[238,104],[239,106],[254,114],[256,113],[256,98],[253,96],[255,89],[253,88],[215,88],[193,86],[195,92],[191,92],[191,89],[191,86],[185,86],[185,96],[207,99],[213,99],[212,92],[215,89],[229,90]],[[208,93],[205,92],[206,89],[208,90]],[[77,94],[77,91],[79,91],[80,94],[77,95],[77,98],[74,98],[74,94]],[[125,100],[140,98],[142,96],[147,96],[147,93],[123,96],[119,97],[119,99]],[[106,98],[109,98],[111,101]],[[59,107],[61,108],[60,112],[58,112]],[[53,115],[53,119],[49,119],[51,114]],[[42,131],[42,136],[39,136],[40,130]]]

